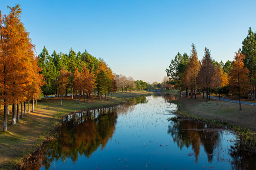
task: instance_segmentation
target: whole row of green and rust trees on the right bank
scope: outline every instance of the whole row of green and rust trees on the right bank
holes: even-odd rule
[[[216,94],[232,94],[238,96],[239,103],[242,95],[250,95],[255,100],[256,76],[256,33],[248,31],[243,41],[242,50],[235,52],[234,61],[225,64],[217,62],[210,57],[210,50],[205,48],[201,61],[195,45],[192,44],[191,55],[179,52],[166,69],[169,83],[180,90],[186,90],[186,97],[191,92],[191,98],[196,98],[197,90],[206,92],[206,99],[210,100],[210,92],[214,89]],[[219,95],[220,96],[220,95]],[[218,101],[217,101],[218,105]],[[239,104],[241,110],[241,104]]]

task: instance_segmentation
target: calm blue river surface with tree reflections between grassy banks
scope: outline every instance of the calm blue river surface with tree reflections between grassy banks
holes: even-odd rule
[[[256,169],[256,155],[238,150],[231,132],[175,116],[174,99],[143,96],[69,115],[33,169]]]

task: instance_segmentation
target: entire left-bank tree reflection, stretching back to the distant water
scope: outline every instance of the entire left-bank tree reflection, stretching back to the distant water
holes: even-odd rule
[[[105,107],[95,110],[83,110],[78,113],[66,115],[63,126],[60,128],[60,136],[50,143],[39,153],[40,160],[27,167],[40,169],[45,166],[48,170],[54,160],[66,161],[70,158],[77,161],[79,155],[90,157],[101,146],[103,150],[115,131],[118,114],[126,114],[134,110],[138,103],[146,103],[145,96],[128,99],[127,102],[115,107]]]

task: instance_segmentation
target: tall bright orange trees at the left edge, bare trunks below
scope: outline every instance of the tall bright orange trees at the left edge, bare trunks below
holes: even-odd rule
[[[11,124],[15,125],[26,115],[25,102],[28,101],[29,112],[29,100],[32,99],[34,104],[34,99],[41,93],[40,86],[44,84],[34,53],[35,46],[20,21],[21,9],[19,5],[8,8],[9,15],[1,15],[0,11],[0,105],[4,105],[4,131],[7,131],[9,104],[12,104]]]

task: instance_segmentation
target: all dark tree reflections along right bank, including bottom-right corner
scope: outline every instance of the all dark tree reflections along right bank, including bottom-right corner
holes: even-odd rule
[[[208,161],[213,161],[213,156],[216,155],[217,161],[230,162],[232,169],[236,170],[254,170],[256,167],[256,153],[253,151],[245,151],[238,148],[238,146],[231,145],[229,148],[229,155],[232,160],[224,159],[224,148],[221,144],[223,142],[223,132],[218,129],[210,128],[209,124],[195,122],[193,120],[170,119],[171,125],[168,127],[168,134],[173,136],[174,142],[181,149],[185,147],[192,147],[195,161],[197,162],[200,155],[200,148],[203,146],[208,156]],[[191,130],[189,130],[191,129]],[[202,130],[204,129],[204,130]],[[192,154],[189,154],[192,155]]]

